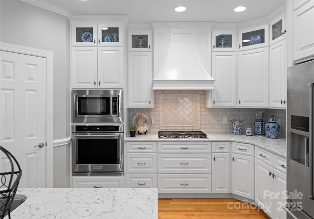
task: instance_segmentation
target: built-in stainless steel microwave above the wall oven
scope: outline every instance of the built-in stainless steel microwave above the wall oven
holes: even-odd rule
[[[72,90],[72,122],[123,122],[123,90]]]

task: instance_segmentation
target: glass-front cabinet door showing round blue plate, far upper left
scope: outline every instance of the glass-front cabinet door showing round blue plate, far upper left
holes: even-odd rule
[[[97,23],[72,23],[72,45],[97,45]]]

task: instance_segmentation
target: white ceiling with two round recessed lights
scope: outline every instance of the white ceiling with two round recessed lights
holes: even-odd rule
[[[72,14],[126,14],[130,23],[245,22],[267,15],[286,0],[45,0]],[[175,12],[185,6],[184,12]],[[246,6],[244,12],[234,12]]]

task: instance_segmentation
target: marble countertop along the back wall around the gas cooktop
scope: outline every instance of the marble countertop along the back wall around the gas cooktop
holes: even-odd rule
[[[189,142],[189,141],[234,141],[246,144],[253,144],[260,147],[266,151],[277,154],[281,157],[286,158],[287,145],[286,138],[267,138],[266,136],[258,137],[256,135],[246,136],[246,135],[235,135],[235,134],[223,134],[223,133],[207,133],[208,138],[168,138],[160,139],[157,133],[152,134],[141,134],[135,137],[127,136],[125,141],[157,141],[157,142]]]

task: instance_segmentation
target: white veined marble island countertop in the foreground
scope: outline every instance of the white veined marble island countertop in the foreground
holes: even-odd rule
[[[18,189],[12,219],[157,219],[157,189]],[[5,219],[8,217],[6,216]]]

